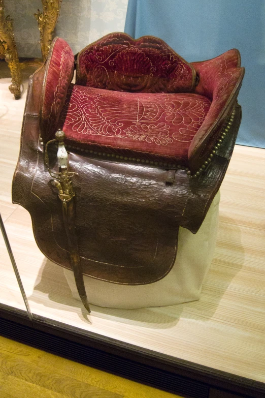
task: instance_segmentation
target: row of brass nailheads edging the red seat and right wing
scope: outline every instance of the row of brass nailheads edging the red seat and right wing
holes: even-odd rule
[[[209,155],[209,158],[204,162],[202,167],[200,167],[194,174],[191,174],[191,171],[188,167],[177,165],[175,163],[168,163],[168,162],[157,162],[153,160],[148,160],[148,159],[140,159],[140,158],[135,158],[135,157],[127,157],[127,156],[122,156],[122,155],[115,155],[115,154],[109,154],[107,152],[101,152],[101,151],[96,151],[92,149],[85,149],[79,146],[75,145],[68,145],[65,144],[65,147],[69,149],[77,149],[80,150],[81,152],[86,152],[87,154],[91,154],[94,156],[99,156],[101,158],[106,158],[107,160],[118,160],[118,161],[124,161],[124,162],[132,162],[132,163],[144,163],[148,165],[154,165],[154,166],[164,166],[170,169],[178,169],[178,170],[185,170],[189,178],[197,178],[209,164],[211,163],[214,155],[216,154],[217,150],[220,148],[224,138],[226,137],[227,133],[229,133],[229,130],[233,124],[234,118],[235,118],[236,110],[235,108],[233,109],[233,112],[231,113],[231,116],[229,117],[227,123],[223,127],[219,138],[216,141],[216,144],[214,146],[214,149],[211,151],[211,154]],[[41,144],[43,145],[42,139],[40,137]]]

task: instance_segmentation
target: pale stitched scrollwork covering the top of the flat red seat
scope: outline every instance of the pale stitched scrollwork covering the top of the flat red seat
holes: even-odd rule
[[[130,140],[165,146],[190,142],[210,105],[195,94],[131,94],[75,85],[62,117],[73,133],[115,137],[127,146]]]

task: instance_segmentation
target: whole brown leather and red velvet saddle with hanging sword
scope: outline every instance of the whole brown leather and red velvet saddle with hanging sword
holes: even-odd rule
[[[76,83],[72,83],[76,69]],[[196,233],[241,121],[238,50],[188,64],[162,40],[113,33],[76,57],[55,38],[30,77],[13,202],[46,257],[141,285],[171,270],[178,228]]]

